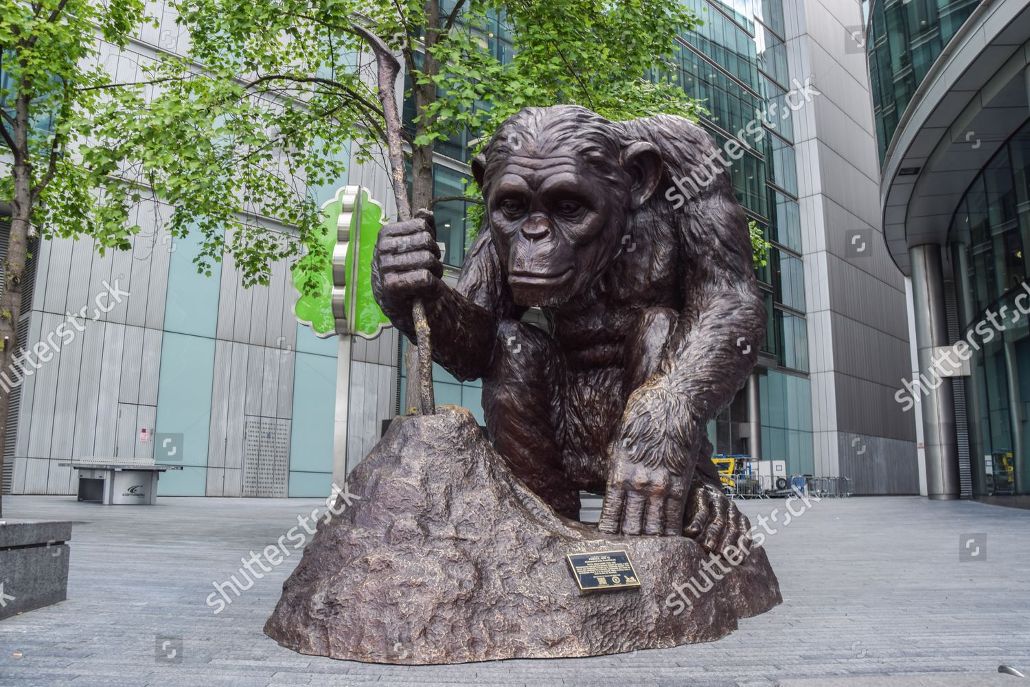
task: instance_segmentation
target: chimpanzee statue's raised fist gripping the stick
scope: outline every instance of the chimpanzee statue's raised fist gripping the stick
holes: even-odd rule
[[[387,315],[408,313],[416,298],[432,300],[443,287],[440,246],[433,213],[419,210],[408,221],[379,231],[372,257],[372,286]]]

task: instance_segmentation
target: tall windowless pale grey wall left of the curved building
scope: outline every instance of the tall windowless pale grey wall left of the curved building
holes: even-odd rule
[[[784,12],[790,73],[820,92],[793,115],[815,469],[861,493],[915,493],[915,422],[893,399],[908,367],[904,281],[880,221],[861,7],[786,0]]]

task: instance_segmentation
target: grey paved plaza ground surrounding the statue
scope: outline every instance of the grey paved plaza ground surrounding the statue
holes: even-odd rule
[[[893,685],[879,676],[899,674],[922,675],[904,683],[914,685],[1030,685],[996,675],[1000,663],[1030,674],[1030,511],[918,497],[823,500],[785,526],[768,525],[777,528],[765,548],[783,605],[718,642],[595,658],[394,666],[302,656],[262,633],[296,554],[221,613],[205,603],[212,582],[238,575],[241,557],[274,544],[319,505],[168,497],[156,507],[103,507],[5,496],[6,517],[75,524],[68,600],[0,621],[0,686],[844,687]],[[784,502],[742,504],[753,521],[776,508]],[[965,682],[974,676],[984,678]],[[865,680],[840,681],[855,676]]]

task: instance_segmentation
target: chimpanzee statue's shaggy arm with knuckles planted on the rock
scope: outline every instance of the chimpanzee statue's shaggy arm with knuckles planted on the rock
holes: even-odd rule
[[[630,394],[615,434],[603,531],[679,534],[706,425],[757,358],[765,309],[747,225],[739,207],[722,209],[721,222],[684,229],[685,305],[658,370]]]

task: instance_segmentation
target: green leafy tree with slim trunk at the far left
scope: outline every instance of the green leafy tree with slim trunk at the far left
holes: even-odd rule
[[[29,240],[89,235],[101,249],[131,245],[129,190],[116,179],[116,157],[84,135],[101,101],[97,87],[109,82],[97,66],[99,40],[124,46],[143,21],[143,4],[0,0],[0,202],[10,207],[0,372],[8,379],[21,378],[11,373]],[[0,452],[10,390],[0,384]]]

